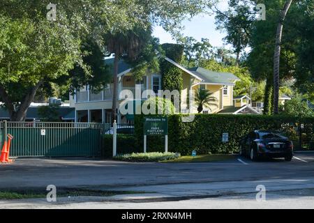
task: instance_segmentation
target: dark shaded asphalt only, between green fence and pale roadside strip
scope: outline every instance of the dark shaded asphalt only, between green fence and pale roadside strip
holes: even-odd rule
[[[19,159],[0,164],[0,188],[131,186],[169,183],[269,180],[314,177],[314,153],[282,159],[204,163],[128,163],[104,160]],[[305,162],[304,162],[305,161]],[[314,186],[313,186],[314,187]]]

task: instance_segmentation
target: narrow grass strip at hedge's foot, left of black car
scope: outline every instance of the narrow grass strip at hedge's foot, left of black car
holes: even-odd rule
[[[195,157],[186,155],[181,156],[175,160],[165,160],[161,162],[214,162],[214,161],[224,161],[224,160],[234,160],[235,155],[226,154],[214,154],[214,155],[197,155]]]

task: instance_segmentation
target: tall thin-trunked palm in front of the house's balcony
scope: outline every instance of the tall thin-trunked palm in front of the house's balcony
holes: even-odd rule
[[[107,33],[105,35],[106,50],[114,54],[114,78],[112,94],[112,123],[117,120],[117,84],[119,59],[124,57],[129,61],[135,61],[142,49],[151,38],[151,25],[146,28],[135,27],[125,33]]]

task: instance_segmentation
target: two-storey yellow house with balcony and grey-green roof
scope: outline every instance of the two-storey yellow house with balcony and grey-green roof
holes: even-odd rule
[[[208,89],[217,99],[217,106],[204,107],[202,113],[224,113],[225,108],[234,107],[233,88],[239,80],[238,77],[232,73],[213,72],[200,67],[187,69],[167,57],[165,60],[182,70],[181,113],[197,113],[197,105],[190,98],[198,89]],[[113,61],[114,59],[105,59],[105,63],[109,65],[113,64]],[[147,73],[142,80],[135,80],[131,67],[124,61],[119,61],[117,106],[126,100],[146,100],[144,92],[147,89],[158,95],[158,90],[162,89],[161,78],[158,73]],[[113,84],[107,84],[103,91],[93,93],[87,85],[75,91],[75,94],[70,96],[70,107],[75,108],[75,121],[110,123],[112,89]],[[142,97],[136,98],[136,95]],[[121,115],[119,110],[117,114],[117,123],[132,123],[133,116]]]

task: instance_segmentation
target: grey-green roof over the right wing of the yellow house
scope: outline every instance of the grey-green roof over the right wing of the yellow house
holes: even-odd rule
[[[209,84],[234,85],[234,82],[239,80],[239,78],[234,76],[231,72],[214,72],[201,67],[190,68],[188,70],[193,72],[197,77],[202,78],[205,83]]]

